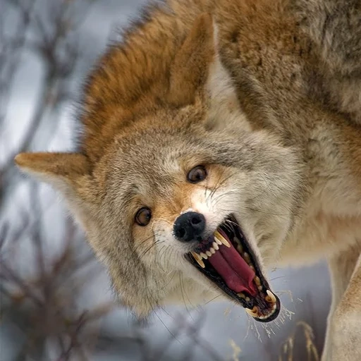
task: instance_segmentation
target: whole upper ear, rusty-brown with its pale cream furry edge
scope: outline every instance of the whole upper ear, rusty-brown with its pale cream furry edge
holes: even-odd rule
[[[240,117],[237,91],[219,54],[216,23],[207,13],[199,16],[190,30],[171,68],[169,99],[171,104],[194,104],[198,94],[209,99],[208,126],[231,123]]]

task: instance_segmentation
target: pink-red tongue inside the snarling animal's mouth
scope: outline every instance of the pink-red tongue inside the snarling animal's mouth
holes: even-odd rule
[[[226,238],[224,233],[222,235]],[[231,241],[229,244],[231,245]],[[237,293],[247,291],[253,296],[256,295],[257,288],[253,282],[255,271],[250,269],[233,245],[229,248],[220,245],[219,251],[216,251],[212,257],[208,257],[208,260],[231,290]]]

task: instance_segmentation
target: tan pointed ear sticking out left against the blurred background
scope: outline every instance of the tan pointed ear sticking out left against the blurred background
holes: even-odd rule
[[[68,195],[84,186],[82,181],[90,173],[90,165],[79,153],[20,153],[16,165],[25,173],[49,183]]]

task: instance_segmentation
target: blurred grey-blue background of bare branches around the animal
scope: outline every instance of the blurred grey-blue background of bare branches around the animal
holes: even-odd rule
[[[324,263],[270,270],[283,302],[270,324],[226,302],[158,310],[140,324],[112,302],[55,192],[13,166],[18,152],[71,149],[85,75],[144,2],[0,0],[0,361],[319,360]]]

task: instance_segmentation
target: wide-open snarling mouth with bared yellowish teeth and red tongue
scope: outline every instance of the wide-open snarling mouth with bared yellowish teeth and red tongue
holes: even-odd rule
[[[279,315],[279,298],[269,289],[257,257],[233,215],[227,216],[213,235],[185,258],[255,320],[270,322]]]

